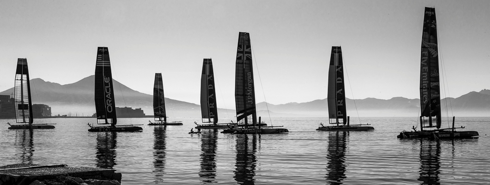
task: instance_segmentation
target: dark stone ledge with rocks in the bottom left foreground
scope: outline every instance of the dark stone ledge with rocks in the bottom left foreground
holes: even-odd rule
[[[0,166],[0,185],[121,185],[114,169],[59,165]]]

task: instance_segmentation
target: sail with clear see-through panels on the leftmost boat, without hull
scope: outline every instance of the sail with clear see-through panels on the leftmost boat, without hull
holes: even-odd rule
[[[14,91],[15,118],[17,123],[32,124],[32,102],[27,59],[17,59]]]

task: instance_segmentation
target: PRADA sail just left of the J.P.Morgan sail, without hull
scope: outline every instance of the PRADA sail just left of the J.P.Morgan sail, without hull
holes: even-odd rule
[[[218,123],[213,62],[211,59],[204,59],[202,62],[201,115],[203,123]]]

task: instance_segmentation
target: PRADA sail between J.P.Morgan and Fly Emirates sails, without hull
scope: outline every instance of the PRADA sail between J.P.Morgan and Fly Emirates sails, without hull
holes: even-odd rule
[[[345,90],[343,78],[342,48],[332,46],[330,55],[330,66],[328,68],[328,117],[336,119],[336,123],[347,123],[347,112],[345,107]],[[339,122],[342,120],[342,122]]]

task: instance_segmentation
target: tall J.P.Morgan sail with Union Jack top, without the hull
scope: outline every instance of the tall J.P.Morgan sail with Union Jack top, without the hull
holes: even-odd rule
[[[235,103],[237,109],[237,122],[243,120],[245,124],[256,124],[255,88],[252,70],[252,50],[250,35],[240,32],[238,36],[237,61],[235,71]],[[248,123],[248,116],[252,116],[252,123]]]

